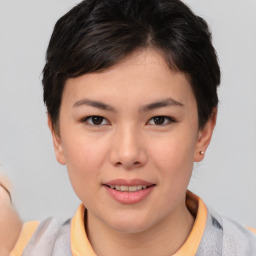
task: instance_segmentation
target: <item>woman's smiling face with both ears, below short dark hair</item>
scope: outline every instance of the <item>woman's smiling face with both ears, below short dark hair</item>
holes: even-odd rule
[[[214,127],[208,123],[198,130],[185,75],[144,50],[69,79],[53,139],[89,218],[132,233],[185,211],[193,162],[203,158]]]

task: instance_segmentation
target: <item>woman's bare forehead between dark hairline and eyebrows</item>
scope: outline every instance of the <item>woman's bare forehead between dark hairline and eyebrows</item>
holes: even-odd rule
[[[66,81],[62,102],[88,98],[121,101],[123,105],[172,97],[176,101],[194,100],[185,74],[171,70],[154,50],[135,52],[120,63],[98,73]]]

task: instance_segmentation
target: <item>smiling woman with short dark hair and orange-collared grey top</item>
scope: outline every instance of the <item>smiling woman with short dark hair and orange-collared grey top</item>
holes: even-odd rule
[[[180,1],[88,0],[65,14],[44,101],[82,205],[71,222],[27,223],[11,255],[255,255],[251,231],[187,191],[219,83],[207,24]]]

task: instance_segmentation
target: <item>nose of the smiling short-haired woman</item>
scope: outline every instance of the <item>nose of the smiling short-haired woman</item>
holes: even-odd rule
[[[145,145],[136,128],[128,125],[119,128],[112,139],[110,161],[114,166],[134,169],[146,164]]]

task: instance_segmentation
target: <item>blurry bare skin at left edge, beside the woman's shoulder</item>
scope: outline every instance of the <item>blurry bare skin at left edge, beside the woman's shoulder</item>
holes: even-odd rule
[[[0,177],[0,181],[8,187],[3,176]],[[9,194],[2,186],[0,186],[0,227],[0,255],[8,256],[19,237],[22,223]]]

